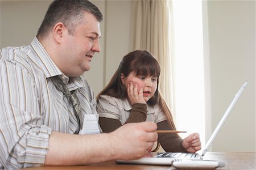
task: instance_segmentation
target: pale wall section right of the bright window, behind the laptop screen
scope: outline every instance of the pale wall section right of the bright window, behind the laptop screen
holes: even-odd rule
[[[248,86],[213,151],[255,151],[255,1],[208,1],[212,130],[243,82]]]

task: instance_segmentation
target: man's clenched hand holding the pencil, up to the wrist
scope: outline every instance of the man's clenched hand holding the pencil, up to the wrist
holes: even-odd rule
[[[125,124],[111,133],[117,159],[138,159],[151,151],[158,139],[154,122]]]

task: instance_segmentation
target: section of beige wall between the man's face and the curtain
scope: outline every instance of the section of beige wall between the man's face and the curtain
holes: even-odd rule
[[[104,15],[104,22],[101,23],[101,53],[94,56],[90,71],[84,75],[97,95],[112,78],[122,57],[130,51],[131,1],[92,2]]]

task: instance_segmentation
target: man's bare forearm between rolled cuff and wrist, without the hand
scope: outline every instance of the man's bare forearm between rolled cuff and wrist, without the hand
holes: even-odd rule
[[[73,135],[52,132],[45,165],[93,164],[116,159],[110,149],[110,139],[110,135],[104,133]]]

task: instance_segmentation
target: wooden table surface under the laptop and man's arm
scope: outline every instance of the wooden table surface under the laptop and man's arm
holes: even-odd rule
[[[220,162],[225,162],[225,167],[217,169],[230,169],[230,170],[255,170],[256,169],[256,159],[255,152],[208,152],[205,154],[204,159],[217,160]],[[156,165],[131,165],[131,164],[115,164],[114,161],[93,164],[93,165],[83,165],[83,166],[44,166],[27,168],[28,170],[49,170],[49,169],[133,169],[133,170],[171,170],[175,169],[170,166],[156,166]]]

